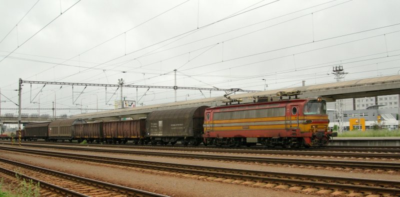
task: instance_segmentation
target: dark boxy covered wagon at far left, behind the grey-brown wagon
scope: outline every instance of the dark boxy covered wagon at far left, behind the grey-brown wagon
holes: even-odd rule
[[[34,140],[36,141],[37,139],[44,139],[47,140],[48,138],[48,124],[50,122],[41,122],[41,123],[31,123],[25,125],[25,136],[24,139],[26,140]]]

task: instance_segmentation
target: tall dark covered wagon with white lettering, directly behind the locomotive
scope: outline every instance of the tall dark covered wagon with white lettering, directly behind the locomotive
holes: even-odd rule
[[[152,111],[146,117],[146,136],[151,143],[180,141],[198,145],[202,141],[204,111],[208,106]]]

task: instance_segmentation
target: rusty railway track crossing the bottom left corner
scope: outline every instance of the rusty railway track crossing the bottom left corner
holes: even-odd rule
[[[41,196],[165,196],[0,158],[0,171],[39,182]],[[17,171],[14,171],[17,169]]]

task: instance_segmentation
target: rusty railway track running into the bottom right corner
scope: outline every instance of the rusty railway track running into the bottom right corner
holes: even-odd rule
[[[1,147],[4,150],[15,151],[15,148]],[[167,172],[169,174],[183,175],[186,177],[205,178],[222,182],[243,183],[254,186],[277,188],[308,189],[312,191],[327,191],[334,194],[361,193],[380,195],[400,195],[400,181],[351,178],[325,175],[310,175],[297,173],[284,173],[248,169],[236,169],[214,166],[189,165],[168,162],[156,162],[116,157],[91,156],[84,154],[67,154],[59,152],[20,149],[21,152],[40,154],[51,157],[62,157],[75,160],[106,163],[112,165],[145,168],[154,172]],[[164,173],[165,174],[165,173]],[[332,194],[333,194],[332,193]]]

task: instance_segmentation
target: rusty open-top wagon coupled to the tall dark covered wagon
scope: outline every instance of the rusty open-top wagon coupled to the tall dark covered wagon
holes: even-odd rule
[[[103,122],[102,136],[108,143],[144,143],[145,119],[120,120]]]

